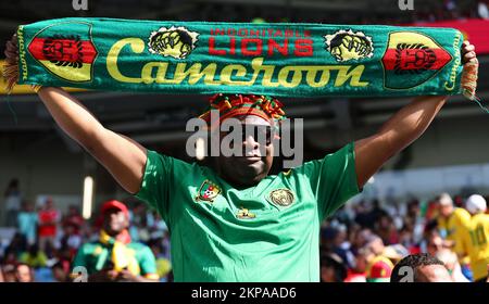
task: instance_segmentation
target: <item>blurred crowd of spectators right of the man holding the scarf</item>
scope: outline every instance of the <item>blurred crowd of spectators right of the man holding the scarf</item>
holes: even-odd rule
[[[455,282],[486,281],[489,215],[478,194],[342,207],[322,226],[324,282],[388,282],[394,265],[423,256],[444,265]],[[430,263],[434,263],[430,261]]]

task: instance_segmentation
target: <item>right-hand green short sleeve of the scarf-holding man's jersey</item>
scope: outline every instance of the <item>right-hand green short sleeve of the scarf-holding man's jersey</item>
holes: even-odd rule
[[[314,192],[322,219],[360,192],[353,142],[322,160],[303,164],[300,169]]]

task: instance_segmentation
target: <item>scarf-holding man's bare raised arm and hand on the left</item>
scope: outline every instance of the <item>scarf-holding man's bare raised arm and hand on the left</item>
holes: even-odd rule
[[[7,43],[7,60],[18,62],[16,39]],[[38,96],[57,124],[99,161],[129,193],[141,185],[146,149],[134,140],[105,129],[74,97],[59,88],[43,87]]]

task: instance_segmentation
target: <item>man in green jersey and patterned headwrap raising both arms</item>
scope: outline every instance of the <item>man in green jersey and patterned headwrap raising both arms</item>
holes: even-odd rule
[[[474,50],[464,41],[462,85],[477,65]],[[10,64],[18,63],[15,38],[8,42],[5,55]],[[242,129],[253,130],[233,142],[242,155],[221,155],[211,166],[160,154],[106,129],[63,89],[34,90],[61,129],[127,192],[158,210],[171,231],[175,281],[319,281],[321,221],[422,136],[448,99],[418,97],[376,134],[269,175],[272,129],[284,111],[275,98],[256,88],[211,99],[211,107],[221,114],[218,123],[234,117]]]

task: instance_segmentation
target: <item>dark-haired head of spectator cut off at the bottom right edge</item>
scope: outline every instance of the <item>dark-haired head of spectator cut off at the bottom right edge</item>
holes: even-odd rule
[[[427,253],[402,258],[392,269],[391,282],[453,282],[443,262]]]

